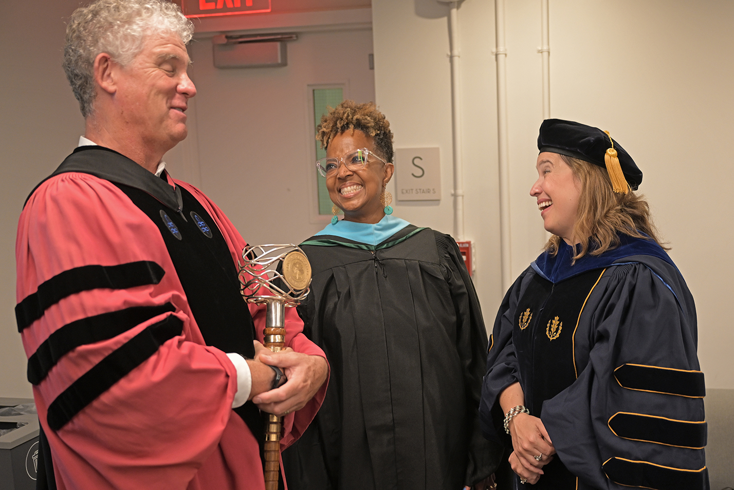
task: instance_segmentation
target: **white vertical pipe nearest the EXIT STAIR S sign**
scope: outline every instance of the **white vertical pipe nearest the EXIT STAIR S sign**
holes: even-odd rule
[[[454,237],[464,239],[464,163],[462,160],[461,87],[459,78],[459,2],[452,1],[448,11],[448,37],[451,43],[451,136],[454,139]]]

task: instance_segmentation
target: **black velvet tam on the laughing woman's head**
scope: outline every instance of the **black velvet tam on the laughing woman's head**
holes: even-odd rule
[[[637,168],[630,154],[616,140],[613,141],[625,180],[636,191],[642,183],[642,170]],[[560,153],[606,169],[604,154],[609,147],[609,136],[599,128],[562,119],[546,119],[540,125],[538,150],[541,152]]]

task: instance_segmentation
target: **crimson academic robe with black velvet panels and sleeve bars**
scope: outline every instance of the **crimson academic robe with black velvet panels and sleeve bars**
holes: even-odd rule
[[[103,147],[34,190],[16,316],[59,490],[264,488],[257,409],[231,408],[225,354],[263,340],[264,307],[239,296],[244,246],[201,191]],[[323,356],[301,331],[286,309],[286,345]],[[285,417],[282,447],[325,390]]]

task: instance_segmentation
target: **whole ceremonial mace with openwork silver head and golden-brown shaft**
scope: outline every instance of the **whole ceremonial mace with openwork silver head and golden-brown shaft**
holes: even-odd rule
[[[266,304],[265,346],[273,352],[282,351],[286,345],[286,307],[297,306],[308,295],[311,282],[308,258],[295,245],[255,245],[245,247],[242,260],[239,266],[242,296],[249,303]],[[265,428],[266,490],[277,490],[281,428],[280,417],[269,414]]]

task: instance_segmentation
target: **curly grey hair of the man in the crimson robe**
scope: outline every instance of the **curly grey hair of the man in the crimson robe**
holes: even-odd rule
[[[146,36],[170,34],[188,44],[194,24],[168,0],[97,0],[74,10],[66,26],[63,67],[81,115],[92,113],[98,54],[107,53],[126,66],[142,51]]]

